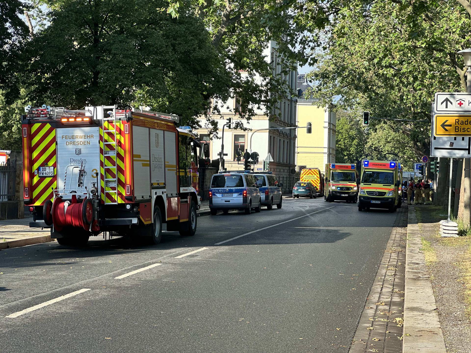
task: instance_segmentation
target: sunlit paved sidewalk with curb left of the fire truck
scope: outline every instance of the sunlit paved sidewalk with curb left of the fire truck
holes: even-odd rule
[[[49,228],[30,228],[32,217],[0,221],[0,249],[53,241]]]

